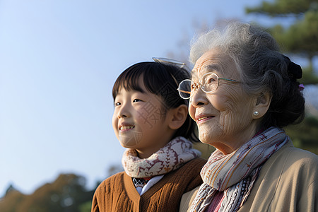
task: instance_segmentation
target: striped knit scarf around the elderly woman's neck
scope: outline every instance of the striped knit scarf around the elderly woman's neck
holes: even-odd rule
[[[262,165],[285,143],[282,129],[271,127],[228,155],[214,151],[201,170],[204,181],[191,211],[205,211],[217,192],[224,192],[219,211],[237,211],[252,190]]]

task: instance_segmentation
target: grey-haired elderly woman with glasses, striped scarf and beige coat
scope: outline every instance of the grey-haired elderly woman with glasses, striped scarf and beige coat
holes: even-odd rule
[[[302,121],[302,69],[259,28],[232,23],[192,45],[179,84],[199,139],[216,148],[180,211],[318,211],[318,156],[282,129]]]

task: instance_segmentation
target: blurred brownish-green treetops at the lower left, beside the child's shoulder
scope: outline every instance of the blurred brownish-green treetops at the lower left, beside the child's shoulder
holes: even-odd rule
[[[83,203],[93,199],[94,191],[86,191],[84,177],[63,174],[52,183],[38,188],[33,194],[25,195],[10,189],[0,201],[1,212],[81,212]]]

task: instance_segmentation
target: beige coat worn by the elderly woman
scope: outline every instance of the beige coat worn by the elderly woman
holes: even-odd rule
[[[189,211],[198,189],[182,196],[180,211]],[[318,211],[318,156],[287,143],[261,168],[243,211]]]

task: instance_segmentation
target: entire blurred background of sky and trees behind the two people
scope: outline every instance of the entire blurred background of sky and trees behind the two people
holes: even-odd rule
[[[117,76],[152,57],[189,63],[194,35],[233,20],[302,66],[306,118],[286,131],[318,154],[317,0],[0,0],[0,211],[90,211],[122,170]]]

